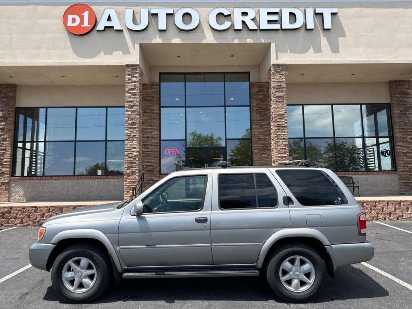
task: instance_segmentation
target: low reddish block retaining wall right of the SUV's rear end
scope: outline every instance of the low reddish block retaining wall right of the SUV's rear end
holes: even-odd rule
[[[412,201],[358,201],[368,221],[412,221]]]

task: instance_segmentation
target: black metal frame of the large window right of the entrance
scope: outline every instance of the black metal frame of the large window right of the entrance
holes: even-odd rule
[[[305,130],[305,115],[304,115],[304,106],[316,106],[316,105],[330,105],[331,106],[331,113],[332,113],[332,134],[333,136],[324,136],[324,137],[307,137],[306,136],[306,130]],[[360,110],[360,116],[361,116],[361,136],[336,136],[335,134],[335,115],[334,115],[334,110],[333,107],[334,105],[356,105],[359,107]],[[363,115],[363,105],[386,105],[387,106],[387,111],[388,111],[388,116],[389,116],[389,125],[388,125],[388,130],[391,131],[391,135],[386,135],[386,136],[379,136],[379,132],[377,133],[377,127],[376,127],[376,119],[375,119],[375,135],[374,136],[366,136],[365,135],[365,127],[363,124],[364,120],[364,115]],[[304,152],[304,159],[307,159],[307,146],[306,146],[306,141],[308,139],[328,139],[331,138],[333,140],[333,148],[335,152],[335,163],[334,163],[334,169],[332,171],[339,173],[339,172],[344,172],[344,173],[351,173],[351,172],[367,172],[367,173],[380,173],[380,172],[396,172],[397,171],[397,165],[396,165],[396,154],[395,154],[395,142],[394,142],[394,136],[393,136],[393,122],[392,122],[392,110],[391,110],[391,104],[390,103],[339,103],[339,104],[330,104],[330,103],[316,103],[316,104],[288,104],[287,106],[300,106],[302,108],[302,128],[303,128],[303,136],[301,137],[289,137],[288,136],[288,141],[289,140],[303,140],[303,152]],[[336,140],[337,139],[345,139],[345,138],[359,138],[362,140],[362,151],[363,151],[363,160],[366,162],[366,139],[372,138],[376,140],[376,144],[379,145],[379,138],[388,138],[389,139],[389,145],[391,146],[391,156],[393,160],[393,168],[391,170],[382,170],[382,164],[381,164],[381,156],[380,156],[380,151],[377,152],[377,162],[378,162],[378,169],[375,170],[367,170],[366,166],[364,166],[364,171],[353,171],[353,170],[336,170],[337,167],[337,154],[336,154]]]

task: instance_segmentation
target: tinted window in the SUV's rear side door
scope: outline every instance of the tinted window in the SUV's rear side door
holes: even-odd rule
[[[276,207],[276,190],[265,174],[221,174],[221,209]]]

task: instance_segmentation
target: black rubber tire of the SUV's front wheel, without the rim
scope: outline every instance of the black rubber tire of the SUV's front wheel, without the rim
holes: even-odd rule
[[[63,267],[72,258],[83,257],[89,259],[96,267],[96,281],[90,290],[84,293],[74,293],[63,283]],[[91,244],[76,244],[63,250],[56,258],[52,267],[52,285],[54,290],[67,302],[85,303],[95,300],[110,285],[111,262],[106,251]]]

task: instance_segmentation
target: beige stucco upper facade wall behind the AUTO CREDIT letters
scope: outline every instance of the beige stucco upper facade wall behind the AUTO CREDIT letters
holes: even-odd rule
[[[356,63],[411,61],[412,2],[244,2],[243,6],[258,7],[330,7],[339,13],[332,16],[332,30],[322,30],[321,16],[315,16],[315,29],[301,27],[286,31],[214,31],[208,25],[208,13],[213,7],[227,7],[233,12],[235,2],[139,2],[90,4],[98,19],[105,7],[114,7],[124,31],[93,30],[85,36],[71,35],[62,24],[62,16],[69,3],[1,4],[0,63],[8,65],[36,64],[126,64],[134,63],[136,43],[151,42],[276,42],[276,61],[280,63],[310,63],[334,61]],[[200,14],[196,30],[185,32],[167,18],[167,31],[158,32],[157,16],[149,17],[149,26],[132,32],[124,25],[124,7],[135,7],[140,20],[140,7],[192,6]],[[232,20],[231,17],[227,18]],[[196,57],[196,55],[193,55]]]

